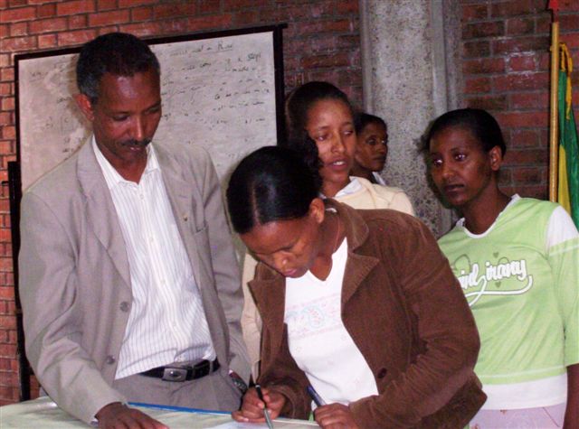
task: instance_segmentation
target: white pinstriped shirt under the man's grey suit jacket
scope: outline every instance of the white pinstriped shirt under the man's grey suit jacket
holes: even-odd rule
[[[92,148],[127,247],[133,301],[116,378],[173,362],[215,359],[201,294],[179,234],[154,148],[140,182],[123,179]]]

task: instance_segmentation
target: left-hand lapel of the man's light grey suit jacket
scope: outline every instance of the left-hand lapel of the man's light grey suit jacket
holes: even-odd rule
[[[77,174],[81,191],[87,199],[87,221],[100,244],[107,250],[125,284],[130,288],[127,248],[120,229],[117,210],[110,197],[109,187],[102,175],[90,140],[79,150]]]

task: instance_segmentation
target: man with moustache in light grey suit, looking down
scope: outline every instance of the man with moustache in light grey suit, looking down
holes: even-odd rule
[[[214,166],[150,144],[159,76],[135,36],[83,46],[76,99],[93,136],[22,201],[28,359],[59,406],[100,427],[165,427],[127,401],[233,411],[249,378]]]

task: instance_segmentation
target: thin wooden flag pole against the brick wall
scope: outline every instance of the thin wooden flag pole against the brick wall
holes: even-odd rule
[[[551,115],[549,117],[549,201],[557,201],[557,175],[559,170],[559,117],[557,111],[557,94],[559,88],[559,22],[557,21],[556,15],[556,3],[557,2],[549,2],[549,8],[553,11],[553,23],[551,23]]]

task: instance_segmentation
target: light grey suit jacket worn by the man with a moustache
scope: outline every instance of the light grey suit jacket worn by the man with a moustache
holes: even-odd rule
[[[239,267],[204,150],[155,145],[204,303],[220,371],[249,378]],[[85,422],[125,400],[111,385],[128,321],[128,256],[90,144],[24,193],[19,256],[26,353],[46,392]]]

